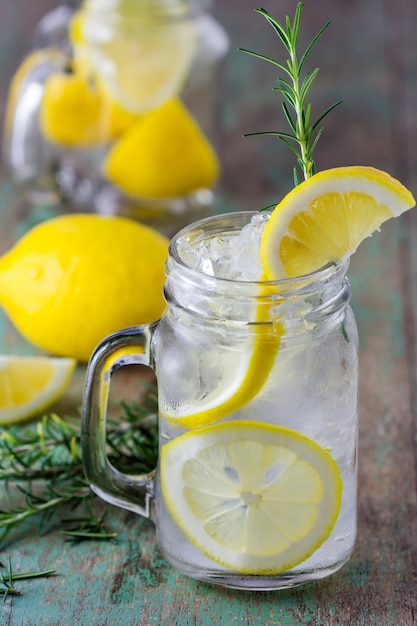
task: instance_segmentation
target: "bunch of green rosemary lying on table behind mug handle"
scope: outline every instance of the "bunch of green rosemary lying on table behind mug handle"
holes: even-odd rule
[[[152,386],[139,406],[120,403],[123,415],[108,423],[108,456],[126,473],[146,473],[156,465],[157,410]],[[0,429],[0,546],[23,523],[37,518],[46,525],[59,522],[68,540],[113,539],[105,527],[106,511],[94,513],[99,501],[84,477],[80,421],[47,415],[28,426]],[[6,500],[6,503],[4,502]],[[100,501],[101,503],[101,501]],[[62,519],[63,513],[82,513]],[[63,528],[62,528],[63,526]]]

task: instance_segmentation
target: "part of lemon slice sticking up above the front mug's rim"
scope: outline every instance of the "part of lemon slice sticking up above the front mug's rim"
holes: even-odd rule
[[[324,170],[295,187],[272,212],[261,243],[266,278],[309,274],[345,260],[412,194],[386,172],[353,166]]]

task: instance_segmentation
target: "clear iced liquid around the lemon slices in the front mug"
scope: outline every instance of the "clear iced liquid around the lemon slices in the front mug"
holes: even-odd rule
[[[290,571],[272,576],[233,572],[202,554],[183,534],[166,509],[158,484],[159,542],[165,558],[183,573],[228,587],[278,589],[327,576],[349,558],[356,537],[356,338],[347,341],[338,324],[327,331],[324,336],[311,333],[284,341],[260,393],[220,421],[255,420],[283,426],[329,449],[343,481],[341,510],[331,535]],[[189,328],[187,337],[192,342]],[[201,410],[207,398],[233,384],[239,362],[247,354],[247,339],[240,344],[219,342],[207,331],[201,346],[201,333],[198,337],[200,350],[192,346],[189,352],[183,350],[180,359],[170,360],[167,352],[165,361],[159,359],[160,405],[170,414]],[[171,346],[164,343],[164,350],[171,349],[178,355],[174,340]],[[161,445],[184,431],[161,418]]]

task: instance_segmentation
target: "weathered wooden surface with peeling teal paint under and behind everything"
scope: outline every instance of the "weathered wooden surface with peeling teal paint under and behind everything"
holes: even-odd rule
[[[277,17],[295,0],[265,0]],[[307,40],[328,19],[315,49],[321,72],[316,111],[344,99],[326,121],[320,169],[368,164],[388,170],[417,194],[417,3],[415,0],[314,0],[304,12]],[[0,0],[0,116],[7,84],[31,44],[37,20],[53,0]],[[223,210],[257,209],[291,186],[292,157],[273,138],[244,132],[282,128],[272,66],[239,46],[281,54],[279,42],[250,0],[219,0],[215,14],[231,52],[223,105]],[[5,168],[0,180],[0,245],[48,216],[30,207]],[[54,567],[53,578],[20,583],[23,595],[0,604],[8,626],[360,625],[417,623],[417,213],[393,220],[362,244],[350,280],[360,333],[359,535],[351,561],[327,580],[281,592],[243,592],[177,574],[158,553],[152,525],[115,513],[117,543],[68,544],[35,525],[0,551],[19,570]],[[0,318],[3,352],[31,347]],[[57,410],[77,411],[80,369]],[[1,496],[1,494],[0,494]]]

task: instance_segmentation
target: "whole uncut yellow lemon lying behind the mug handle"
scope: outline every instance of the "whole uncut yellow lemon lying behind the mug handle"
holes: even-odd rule
[[[161,316],[167,251],[127,218],[55,217],[0,258],[0,304],[36,346],[87,361],[109,333]]]

